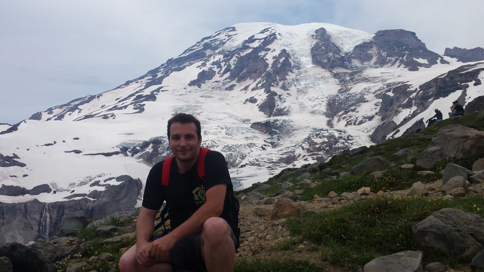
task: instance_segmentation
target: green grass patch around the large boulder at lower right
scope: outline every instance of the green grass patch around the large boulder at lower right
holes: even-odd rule
[[[375,257],[404,250],[422,250],[426,263],[441,261],[455,265],[468,261],[417,245],[412,238],[411,227],[442,208],[483,215],[484,198],[367,198],[337,210],[318,214],[308,212],[306,217],[289,218],[286,226],[291,235],[301,235],[315,244],[323,244],[322,260],[352,271]]]

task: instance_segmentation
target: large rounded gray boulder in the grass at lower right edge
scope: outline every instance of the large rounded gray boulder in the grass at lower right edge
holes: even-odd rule
[[[418,243],[437,247],[447,255],[474,255],[483,250],[484,218],[461,210],[444,208],[412,227]]]

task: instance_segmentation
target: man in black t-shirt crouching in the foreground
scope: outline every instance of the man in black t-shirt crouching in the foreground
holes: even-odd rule
[[[226,160],[217,151],[207,151],[205,175],[199,176],[200,121],[177,113],[167,128],[174,155],[169,178],[162,178],[169,160],[151,168],[136,222],[136,245],[121,257],[120,271],[233,271],[240,229]],[[170,229],[166,235],[153,235],[164,201]]]

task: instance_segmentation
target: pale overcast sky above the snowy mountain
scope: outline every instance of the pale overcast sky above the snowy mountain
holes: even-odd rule
[[[245,22],[405,29],[432,51],[484,47],[484,1],[3,0],[0,123],[114,89]]]

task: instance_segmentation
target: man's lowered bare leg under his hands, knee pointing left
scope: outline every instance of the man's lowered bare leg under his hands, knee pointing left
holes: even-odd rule
[[[173,267],[169,263],[170,257],[152,259],[147,265],[139,265],[136,261],[136,244],[121,256],[119,268],[121,272],[172,272]]]

